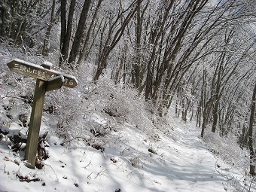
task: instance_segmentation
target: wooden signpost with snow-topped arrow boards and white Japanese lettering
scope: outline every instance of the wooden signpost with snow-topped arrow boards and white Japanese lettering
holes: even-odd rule
[[[11,72],[17,72],[32,78],[36,78],[34,100],[29,123],[29,134],[26,143],[25,158],[28,167],[35,169],[35,158],[38,148],[38,138],[41,126],[41,116],[43,113],[44,96],[47,91],[57,90],[62,85],[73,88],[78,85],[78,81],[72,75],[50,70],[48,62],[38,66],[20,59],[8,62]]]

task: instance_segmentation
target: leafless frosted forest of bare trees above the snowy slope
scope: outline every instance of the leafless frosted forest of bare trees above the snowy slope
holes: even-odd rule
[[[130,87],[202,137],[233,134],[255,174],[254,0],[2,0],[0,18],[14,58]]]

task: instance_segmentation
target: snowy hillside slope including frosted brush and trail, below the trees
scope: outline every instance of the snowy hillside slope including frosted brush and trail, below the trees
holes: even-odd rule
[[[10,60],[9,57],[2,52],[0,58],[2,59],[2,72],[9,73],[6,72],[8,69],[5,66]],[[16,76],[12,77],[13,80],[10,75],[8,77],[9,79],[6,80],[5,75],[2,75],[1,79],[0,122],[2,124],[0,126],[26,134],[27,127],[21,127],[18,124],[20,119],[17,117],[20,117],[22,111],[29,114],[30,105],[23,102],[15,102],[12,108],[8,105],[15,99],[20,99],[20,95],[16,92],[17,89],[23,92],[29,90],[30,86],[24,86],[27,83],[26,79],[14,82]],[[20,84],[20,81],[25,81],[25,83]],[[43,161],[42,169],[27,168],[24,162],[24,151],[11,151],[11,142],[7,136],[2,136],[0,141],[0,191],[221,192],[256,190],[254,183],[245,181],[238,171],[230,169],[230,166],[212,154],[212,149],[206,147],[200,139],[200,129],[194,126],[195,123],[182,123],[172,115],[172,112],[166,120],[160,120],[157,123],[152,123],[150,118],[147,123],[142,123],[140,120],[145,119],[141,117],[137,117],[137,122],[133,121],[133,118],[136,119],[139,114],[133,114],[133,111],[129,112],[128,109],[132,110],[135,106],[140,108],[141,105],[137,105],[134,99],[129,100],[126,94],[117,93],[115,87],[105,85],[102,87],[105,90],[98,89],[100,91],[92,92],[91,97],[73,90],[71,93],[73,96],[78,96],[78,99],[84,98],[82,101],[83,105],[87,105],[87,115],[83,111],[81,116],[75,116],[75,123],[66,122],[70,125],[66,129],[68,132],[66,136],[59,132],[59,129],[64,129],[59,126],[61,121],[59,118],[74,115],[68,111],[69,108],[62,109],[62,114],[44,112],[41,133],[48,132],[46,149],[49,152],[49,158]],[[100,98],[102,92],[105,91],[108,94],[110,90],[111,105],[108,104],[108,108],[102,107],[99,110],[99,105],[104,105],[104,103],[96,99]],[[119,91],[123,91],[123,88]],[[9,93],[14,93],[14,95]],[[56,94],[60,93],[61,91]],[[117,97],[115,102],[113,102],[112,94]],[[49,98],[46,104],[53,102],[54,98]],[[124,100],[118,98],[124,98]],[[126,100],[130,104],[125,103]],[[96,105],[91,105],[92,101]],[[80,102],[78,105],[75,105],[75,102],[69,103],[66,97],[62,98],[62,102],[64,104],[67,102],[69,107],[74,105],[75,108],[81,105]],[[87,102],[90,102],[90,105]],[[122,107],[120,107],[120,102]],[[65,106],[64,104],[62,103],[62,107]],[[117,104],[120,108],[115,108],[115,112],[119,110],[124,113],[125,111],[125,117],[118,119],[117,114],[110,113],[110,107]],[[145,114],[142,106],[140,110],[142,114]],[[77,111],[81,112],[80,108]],[[83,121],[89,117],[89,120]],[[64,121],[69,121],[69,119],[64,119]],[[233,180],[233,178],[236,179]]]

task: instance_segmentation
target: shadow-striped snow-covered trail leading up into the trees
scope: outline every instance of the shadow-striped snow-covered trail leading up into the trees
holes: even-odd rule
[[[169,191],[225,191],[225,178],[216,172],[217,159],[199,138],[200,129],[180,121],[174,124],[179,126],[169,137],[162,136],[157,151],[164,159],[157,165],[159,172],[172,180]]]

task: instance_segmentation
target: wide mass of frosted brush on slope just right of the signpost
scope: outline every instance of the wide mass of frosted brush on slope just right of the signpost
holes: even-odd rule
[[[147,106],[135,90],[111,81],[81,84],[76,90],[62,88],[54,94],[48,93],[46,99],[46,105],[53,105],[58,133],[64,143],[80,140],[90,145],[105,145],[109,133],[118,131],[123,123],[132,123],[142,130],[153,126]]]

